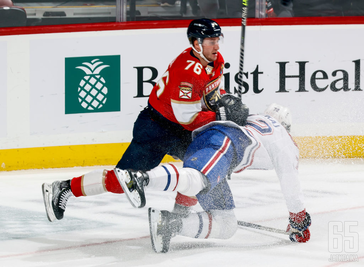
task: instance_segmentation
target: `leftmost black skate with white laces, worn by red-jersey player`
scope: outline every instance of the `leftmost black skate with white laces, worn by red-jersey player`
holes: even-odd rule
[[[63,218],[67,200],[72,196],[71,180],[42,184],[43,200],[49,221]]]

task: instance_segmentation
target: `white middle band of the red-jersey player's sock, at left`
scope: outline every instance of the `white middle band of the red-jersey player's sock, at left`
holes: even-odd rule
[[[81,190],[84,196],[94,196],[107,192],[105,177],[107,170],[93,170],[81,178]]]

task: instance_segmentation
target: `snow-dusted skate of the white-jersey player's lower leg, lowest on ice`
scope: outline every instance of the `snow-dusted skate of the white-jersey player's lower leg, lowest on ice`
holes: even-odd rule
[[[171,238],[182,229],[182,220],[177,213],[148,209],[150,239],[153,250],[165,253],[169,250]]]

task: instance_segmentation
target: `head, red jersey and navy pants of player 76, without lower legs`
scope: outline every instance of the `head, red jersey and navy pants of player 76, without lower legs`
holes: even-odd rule
[[[169,64],[153,87],[117,168],[151,169],[165,154],[183,158],[191,131],[215,120],[215,101],[226,93],[224,61],[218,52],[221,28],[210,19],[193,20],[187,37],[191,47]]]

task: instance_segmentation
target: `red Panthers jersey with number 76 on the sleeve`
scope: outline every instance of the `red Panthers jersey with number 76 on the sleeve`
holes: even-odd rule
[[[224,61],[218,52],[217,59],[203,67],[187,48],[168,66],[162,78],[153,87],[149,103],[170,121],[194,130],[215,120],[215,112],[205,106],[204,99],[217,99],[223,94]]]

